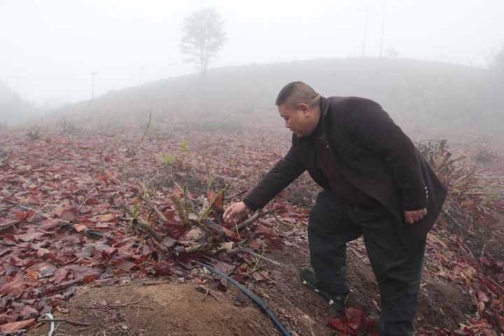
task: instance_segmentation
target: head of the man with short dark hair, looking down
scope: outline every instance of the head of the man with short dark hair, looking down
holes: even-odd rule
[[[288,83],[276,97],[280,116],[286,127],[297,135],[310,135],[320,118],[321,96],[311,86],[302,82]]]

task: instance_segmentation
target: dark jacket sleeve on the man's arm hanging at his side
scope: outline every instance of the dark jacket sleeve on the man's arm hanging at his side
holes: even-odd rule
[[[346,110],[349,137],[386,161],[403,211],[426,208],[426,186],[411,139],[376,102],[366,99],[355,107]]]

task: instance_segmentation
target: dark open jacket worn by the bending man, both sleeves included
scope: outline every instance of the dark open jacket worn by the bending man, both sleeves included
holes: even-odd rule
[[[400,220],[400,234],[406,241],[425,238],[440,214],[447,188],[412,141],[372,100],[322,97],[320,106],[321,137],[344,177]],[[246,195],[247,207],[264,207],[305,170],[322,188],[330,188],[315,154],[313,139],[293,134],[286,156]],[[426,217],[412,225],[405,223],[403,211],[423,208]]]

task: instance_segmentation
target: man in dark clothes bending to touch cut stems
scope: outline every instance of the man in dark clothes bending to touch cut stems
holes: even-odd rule
[[[307,170],[323,191],[308,223],[311,269],[302,283],[342,314],[350,292],[346,243],[363,235],[381,295],[381,335],[413,335],[427,232],[447,190],[381,106],[321,97],[289,83],[276,99],[292,146],[224,220],[264,207]]]

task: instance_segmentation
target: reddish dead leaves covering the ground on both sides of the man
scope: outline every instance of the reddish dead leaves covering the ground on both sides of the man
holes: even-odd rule
[[[268,281],[258,267],[261,255],[267,248],[295,245],[295,230],[281,229],[305,223],[307,209],[281,195],[272,204],[277,218],[236,230],[223,225],[220,216],[232,199],[226,197],[239,199],[283,155],[288,138],[274,139],[178,134],[139,143],[126,132],[78,138],[42,134],[27,141],[20,132],[6,134],[0,157],[0,332],[29,328],[81,284],[117,283],[121,277],[197,277],[200,266],[193,260],[210,262],[238,281]],[[224,187],[225,193],[218,193]],[[139,195],[148,195],[166,221]],[[471,211],[471,218],[488,212],[477,195],[454,196],[449,204]],[[185,215],[174,197],[183,202]],[[134,216],[124,213],[125,206]],[[163,239],[155,241],[134,225],[138,218]],[[187,220],[197,223],[186,225]],[[437,265],[433,275],[463,283],[474,297],[469,304],[475,314],[458,330],[431,332],[498,335],[504,330],[503,262],[472,255],[460,235],[443,228],[435,232],[442,239],[428,241],[428,260]],[[195,246],[207,248],[191,250]],[[227,286],[225,280],[216,281]],[[347,335],[376,330],[358,308],[329,324]]]

